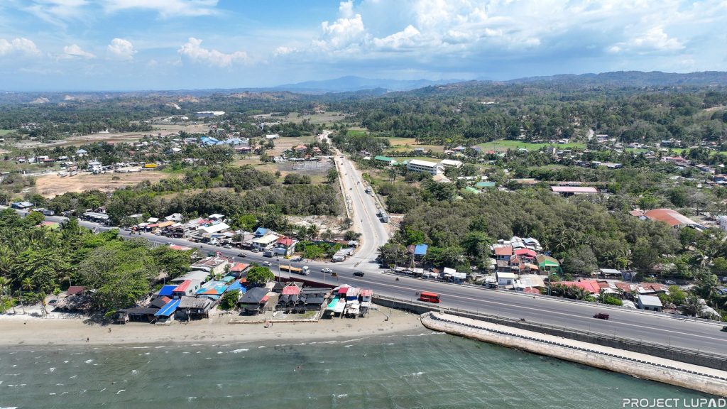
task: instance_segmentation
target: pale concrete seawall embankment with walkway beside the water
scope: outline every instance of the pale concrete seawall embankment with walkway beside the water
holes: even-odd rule
[[[723,370],[431,311],[422,314],[422,324],[431,330],[727,397]]]

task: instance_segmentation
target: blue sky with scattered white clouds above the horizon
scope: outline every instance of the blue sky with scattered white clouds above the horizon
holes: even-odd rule
[[[727,1],[3,0],[0,90],[727,71]]]

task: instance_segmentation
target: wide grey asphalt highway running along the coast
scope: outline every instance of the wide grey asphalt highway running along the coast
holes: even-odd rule
[[[50,217],[49,220],[60,221],[61,218]],[[108,230],[108,227],[96,223],[81,222],[81,226],[89,229]],[[121,231],[124,237],[132,237],[129,231]],[[219,251],[222,255],[234,258],[245,263],[273,263],[271,269],[281,277],[291,277],[287,272],[280,273],[279,263],[290,263],[293,266],[310,266],[310,276],[305,277],[313,281],[327,284],[356,285],[368,287],[374,293],[398,298],[416,298],[415,293],[420,291],[433,291],[442,298],[442,306],[458,309],[467,309],[475,312],[494,314],[502,317],[520,319],[531,322],[571,327],[577,330],[593,331],[630,338],[634,341],[648,341],[656,344],[669,344],[685,349],[694,349],[702,352],[724,354],[727,347],[727,333],[720,331],[720,325],[680,319],[678,316],[668,314],[646,314],[643,311],[631,309],[604,309],[598,304],[582,304],[560,301],[557,298],[545,296],[531,297],[520,293],[508,291],[486,290],[480,287],[454,285],[443,282],[433,282],[410,277],[399,277],[383,274],[377,265],[371,261],[367,266],[346,266],[342,263],[324,262],[289,262],[283,259],[265,258],[260,253],[250,253],[238,249],[225,249],[209,245],[190,243],[185,239],[172,239],[155,236],[153,234],[134,234],[133,237],[145,237],[158,245],[174,243],[185,245],[207,252]],[[238,257],[245,253],[245,258]],[[338,277],[321,273],[323,267],[332,268]],[[353,271],[366,271],[364,277],[354,277]],[[293,274],[295,276],[295,274]],[[593,318],[593,314],[606,311],[611,319],[608,321]]]

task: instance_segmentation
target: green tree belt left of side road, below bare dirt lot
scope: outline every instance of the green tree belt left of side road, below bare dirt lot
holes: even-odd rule
[[[295,175],[295,174],[289,174]],[[49,199],[44,205],[56,213],[75,212],[104,207],[113,223],[134,223],[127,217],[134,214],[169,215],[181,213],[186,217],[222,213],[228,216],[253,213],[261,207],[274,205],[283,215],[337,215],[339,193],[332,183],[310,184],[310,178],[295,175],[281,186],[270,172],[244,167],[209,167],[190,170],[184,178],[166,178],[156,183],[148,180],[114,191],[110,196],[101,191],[68,192]],[[308,183],[306,183],[308,180]],[[335,180],[333,180],[335,181]],[[196,194],[184,193],[192,188],[232,188],[205,190]],[[169,194],[173,196],[169,197]]]

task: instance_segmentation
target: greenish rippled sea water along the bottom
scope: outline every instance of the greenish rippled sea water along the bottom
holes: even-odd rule
[[[710,396],[427,331],[289,344],[0,351],[4,409],[611,409],[623,408],[625,398]]]

